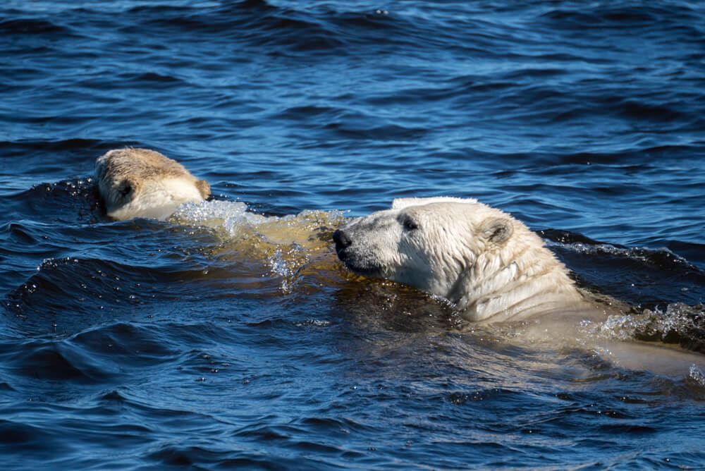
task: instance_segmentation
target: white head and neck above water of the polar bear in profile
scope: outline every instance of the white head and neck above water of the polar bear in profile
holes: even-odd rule
[[[338,258],[357,274],[446,298],[470,321],[603,313],[537,234],[474,199],[394,200],[391,209],[338,229],[333,240]]]

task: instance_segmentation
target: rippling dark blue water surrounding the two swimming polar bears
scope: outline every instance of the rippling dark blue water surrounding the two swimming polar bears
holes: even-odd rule
[[[215,199],[106,219],[125,145]],[[704,158],[699,2],[4,1],[3,467],[701,467],[699,367],[469,325],[330,236],[477,197],[701,355]]]

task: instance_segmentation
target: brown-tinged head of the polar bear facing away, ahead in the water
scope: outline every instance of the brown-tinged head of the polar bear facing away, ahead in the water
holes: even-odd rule
[[[100,200],[108,216],[166,219],[180,204],[210,195],[205,180],[183,165],[149,149],[114,149],[95,162]]]

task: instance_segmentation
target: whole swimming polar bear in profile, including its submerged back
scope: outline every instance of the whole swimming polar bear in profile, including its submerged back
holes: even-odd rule
[[[537,234],[477,200],[394,200],[391,209],[338,229],[333,240],[338,258],[357,274],[446,298],[470,321],[520,321],[532,340],[578,341],[622,367],[702,381],[702,355],[599,334],[611,314],[628,307],[583,294]]]

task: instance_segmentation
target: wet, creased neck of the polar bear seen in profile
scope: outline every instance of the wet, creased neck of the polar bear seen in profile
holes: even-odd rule
[[[543,240],[528,229],[518,232],[513,243],[477,257],[450,290],[448,298],[467,319],[521,320],[585,304]]]

